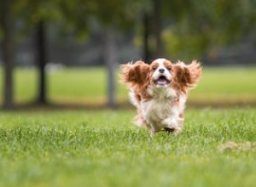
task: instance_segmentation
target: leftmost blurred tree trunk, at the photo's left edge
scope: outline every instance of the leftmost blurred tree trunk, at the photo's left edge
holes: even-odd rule
[[[11,109],[13,107],[13,67],[14,67],[14,29],[11,18],[11,1],[2,1],[2,26],[3,26],[3,68],[4,68],[4,86],[3,86],[3,108]]]

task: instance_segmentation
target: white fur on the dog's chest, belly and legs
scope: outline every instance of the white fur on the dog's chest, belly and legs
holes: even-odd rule
[[[131,103],[142,111],[145,122],[149,124],[151,135],[164,127],[174,129],[175,133],[180,132],[183,118],[180,118],[179,114],[185,108],[186,96],[180,95],[179,105],[173,105],[177,100],[177,94],[171,87],[157,88],[149,85],[147,92],[153,97],[148,101],[142,100],[138,103],[132,91],[130,98]]]

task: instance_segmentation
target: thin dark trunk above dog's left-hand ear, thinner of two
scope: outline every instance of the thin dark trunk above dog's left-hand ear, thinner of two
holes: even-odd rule
[[[149,37],[149,18],[148,18],[148,14],[144,13],[144,16],[143,16],[143,59],[146,63],[149,63],[149,59],[150,59],[148,37]]]

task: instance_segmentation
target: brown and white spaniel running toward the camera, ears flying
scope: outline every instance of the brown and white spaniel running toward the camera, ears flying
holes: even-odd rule
[[[165,130],[179,133],[188,91],[201,78],[201,65],[190,65],[167,59],[155,59],[151,65],[143,61],[120,65],[121,82],[130,88],[131,104],[137,107],[136,124],[148,127],[151,135]]]

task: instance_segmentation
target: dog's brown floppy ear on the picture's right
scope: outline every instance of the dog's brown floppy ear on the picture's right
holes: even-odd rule
[[[189,88],[195,88],[201,79],[201,65],[196,60],[193,60],[190,65],[178,61],[176,65],[173,65],[173,71],[175,74],[174,83],[183,92]]]

